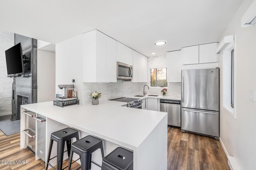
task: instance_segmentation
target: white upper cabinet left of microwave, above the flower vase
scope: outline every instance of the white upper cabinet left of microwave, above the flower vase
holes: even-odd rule
[[[116,82],[117,41],[98,30],[83,34],[84,82]]]

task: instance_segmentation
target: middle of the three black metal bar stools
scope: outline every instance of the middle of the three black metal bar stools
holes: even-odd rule
[[[97,149],[101,150],[102,158],[104,158],[102,140],[90,135],[72,143],[70,150],[71,155],[68,162],[68,170],[70,170],[71,168],[71,162],[74,152],[80,156],[81,170],[91,169],[91,163],[101,167],[100,165],[92,162],[92,153],[95,152]],[[75,162],[76,161],[77,160],[75,160]]]

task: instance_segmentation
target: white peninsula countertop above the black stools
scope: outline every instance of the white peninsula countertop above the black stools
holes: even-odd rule
[[[121,107],[125,104],[127,103],[106,100],[100,101],[96,106],[87,104],[62,108],[53,106],[53,102],[43,102],[21,107],[107,141],[135,149],[167,114]]]

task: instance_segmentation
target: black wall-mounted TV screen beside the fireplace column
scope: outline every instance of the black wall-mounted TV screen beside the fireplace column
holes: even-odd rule
[[[18,43],[5,51],[7,74],[19,74],[24,72],[21,44]]]

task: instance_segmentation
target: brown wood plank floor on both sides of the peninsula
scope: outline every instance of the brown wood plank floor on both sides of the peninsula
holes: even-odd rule
[[[14,164],[0,164],[0,170],[44,170],[45,167],[41,159],[35,161],[31,150],[20,150],[20,133],[6,136],[0,131],[1,160],[11,160]],[[28,164],[17,164],[16,160],[27,160]],[[219,141],[168,127],[168,170],[229,170],[227,162]],[[63,167],[67,165],[68,160],[64,160]],[[72,164],[72,169],[79,167],[77,163]]]

